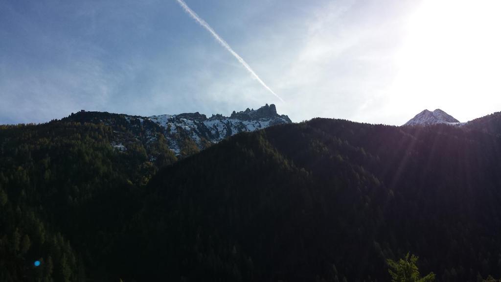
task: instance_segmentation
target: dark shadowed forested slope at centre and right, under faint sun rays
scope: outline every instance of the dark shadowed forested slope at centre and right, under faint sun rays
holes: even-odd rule
[[[383,281],[384,258],[411,251],[441,281],[499,275],[499,171],[498,137],[448,125],[314,119],[239,134],[150,182],[125,240],[143,242],[129,262],[150,271],[127,269]]]

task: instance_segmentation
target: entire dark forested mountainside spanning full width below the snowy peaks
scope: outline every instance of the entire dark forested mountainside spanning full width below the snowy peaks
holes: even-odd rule
[[[317,118],[177,162],[115,125],[0,126],[0,280],[387,281],[409,251],[438,281],[498,277],[499,124]]]

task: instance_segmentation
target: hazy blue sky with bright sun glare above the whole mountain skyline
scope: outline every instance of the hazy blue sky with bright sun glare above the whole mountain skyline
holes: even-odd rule
[[[0,124],[266,103],[296,122],[501,111],[501,1],[184,3],[220,40],[177,0],[0,0]]]

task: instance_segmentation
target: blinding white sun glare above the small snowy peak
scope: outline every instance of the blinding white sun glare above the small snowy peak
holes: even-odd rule
[[[500,12],[498,0],[423,1],[395,58],[394,102],[464,111],[501,100]]]

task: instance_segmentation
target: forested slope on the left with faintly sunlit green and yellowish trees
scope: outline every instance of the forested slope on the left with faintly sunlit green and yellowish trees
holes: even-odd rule
[[[108,273],[106,248],[157,170],[142,146],[119,152],[112,137],[104,124],[0,126],[1,281]]]

